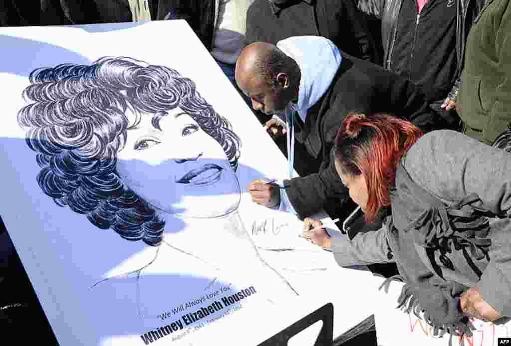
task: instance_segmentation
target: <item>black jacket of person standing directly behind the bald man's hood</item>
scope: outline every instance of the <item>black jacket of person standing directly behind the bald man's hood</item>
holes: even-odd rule
[[[247,44],[307,35],[326,37],[350,55],[377,61],[374,39],[353,0],[255,0],[248,9]]]

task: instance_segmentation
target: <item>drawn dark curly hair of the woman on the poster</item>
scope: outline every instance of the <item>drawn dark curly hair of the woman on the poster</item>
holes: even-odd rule
[[[156,211],[125,186],[117,153],[141,114],[180,107],[222,145],[237,169],[240,139],[227,119],[201,97],[195,83],[176,70],[126,57],[91,65],[61,64],[30,74],[18,112],[26,141],[37,152],[39,186],[59,206],[85,214],[100,229],[127,240],[158,245],[165,226]],[[135,115],[129,124],[126,109]]]

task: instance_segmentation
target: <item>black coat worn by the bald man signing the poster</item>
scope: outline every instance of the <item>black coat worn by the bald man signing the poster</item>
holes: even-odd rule
[[[322,157],[318,173],[284,182],[299,218],[321,211],[329,201],[349,200],[331,157],[335,135],[349,112],[391,113],[409,119],[425,132],[447,127],[414,83],[379,65],[341,54],[332,84],[309,109],[306,122],[296,116],[296,140],[304,143],[311,155]]]

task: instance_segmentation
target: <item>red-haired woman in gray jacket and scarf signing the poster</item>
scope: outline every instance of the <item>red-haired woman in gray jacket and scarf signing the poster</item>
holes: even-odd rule
[[[341,266],[396,262],[399,306],[435,334],[471,335],[468,317],[511,316],[511,155],[461,133],[423,135],[385,114],[349,114],[337,133],[337,173],[368,221],[384,226],[353,240],[315,227],[304,236]],[[384,285],[382,285],[384,286]]]

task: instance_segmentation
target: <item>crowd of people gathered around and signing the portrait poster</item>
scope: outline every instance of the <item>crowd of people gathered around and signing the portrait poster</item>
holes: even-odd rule
[[[287,179],[249,184],[255,203],[403,281],[399,304],[443,333],[511,317],[509,0],[1,6],[0,26],[187,20],[288,159]],[[357,207],[346,234],[311,218]]]

